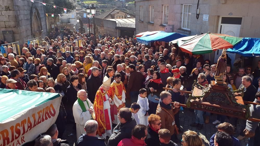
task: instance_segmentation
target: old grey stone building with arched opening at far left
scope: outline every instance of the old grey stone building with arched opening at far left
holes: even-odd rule
[[[44,5],[30,1],[0,0],[0,30],[1,40],[5,35],[9,43],[19,41],[20,45],[34,37],[45,37],[47,25]],[[10,33],[13,33],[13,38]]]

